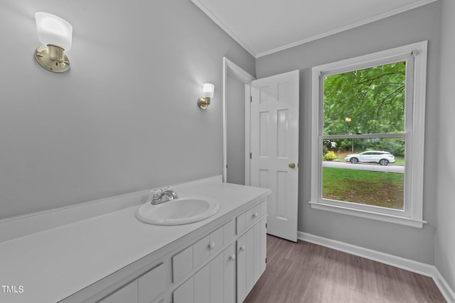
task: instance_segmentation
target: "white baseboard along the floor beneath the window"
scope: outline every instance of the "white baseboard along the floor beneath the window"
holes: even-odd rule
[[[414,260],[397,257],[396,255],[390,255],[387,253],[381,253],[377,250],[371,250],[360,246],[354,246],[352,244],[344,243],[341,241],[332,240],[329,238],[323,238],[320,236],[312,235],[311,233],[304,233],[302,231],[297,232],[297,238],[302,241],[318,244],[328,248],[343,251],[343,253],[350,253],[351,255],[358,255],[362,258],[377,261],[387,265],[394,266],[396,268],[402,268],[411,272],[416,272],[420,275],[432,277],[437,287],[441,291],[447,302],[455,303],[455,292],[449,287],[444,277],[441,275],[439,270],[434,265],[420,263]]]

